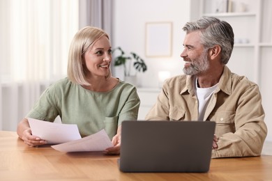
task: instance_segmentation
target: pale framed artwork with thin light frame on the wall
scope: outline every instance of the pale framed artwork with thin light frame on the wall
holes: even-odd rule
[[[172,22],[146,23],[146,56],[172,56]]]

